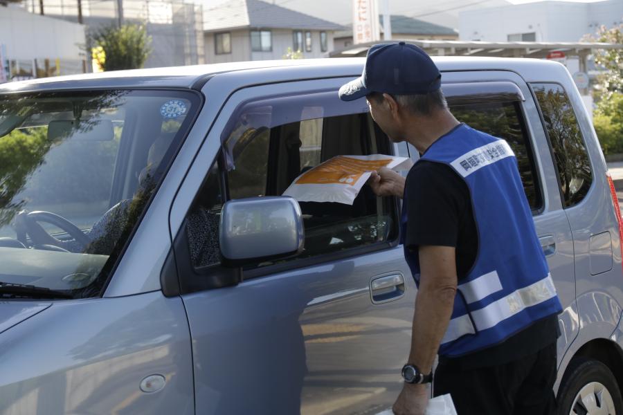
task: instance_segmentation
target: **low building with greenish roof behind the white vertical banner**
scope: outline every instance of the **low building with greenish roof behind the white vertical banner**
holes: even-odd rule
[[[383,32],[383,17],[381,19],[381,40],[385,38]],[[392,39],[401,40],[458,40],[458,33],[452,28],[428,23],[413,17],[392,15],[390,17],[392,26]],[[352,46],[352,30],[337,32],[334,38],[335,50],[341,50]]]

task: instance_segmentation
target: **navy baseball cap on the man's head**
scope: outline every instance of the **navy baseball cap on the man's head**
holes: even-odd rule
[[[340,88],[340,99],[352,101],[371,92],[424,94],[441,87],[441,73],[424,50],[404,42],[374,45],[363,74]]]

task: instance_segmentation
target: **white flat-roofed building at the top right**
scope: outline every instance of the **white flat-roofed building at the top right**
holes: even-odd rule
[[[623,22],[623,1],[595,3],[539,1],[459,14],[459,34],[464,41],[579,42],[597,28]]]

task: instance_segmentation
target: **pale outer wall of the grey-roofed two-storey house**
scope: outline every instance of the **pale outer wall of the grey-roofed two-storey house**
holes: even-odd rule
[[[251,33],[249,30],[231,31],[231,53],[222,55],[215,54],[215,34],[206,33],[204,38],[206,63],[282,59],[287,49],[294,47],[293,30],[273,29],[271,32],[273,50],[270,52],[253,52],[251,51]],[[303,39],[305,41],[305,30],[303,31]],[[311,31],[311,52],[303,50],[303,56],[306,58],[327,57],[330,50],[333,50],[333,32],[327,32],[327,51],[322,52],[320,51],[320,32]]]

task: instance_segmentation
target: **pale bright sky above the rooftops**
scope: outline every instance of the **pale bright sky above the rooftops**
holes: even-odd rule
[[[204,0],[204,8],[213,7],[226,0]],[[307,13],[337,24],[352,21],[352,0],[263,0],[298,12]],[[462,11],[478,10],[509,4],[534,3],[541,0],[389,0],[392,15],[405,15],[449,28],[458,28],[458,15]],[[592,3],[600,0],[554,0]]]

